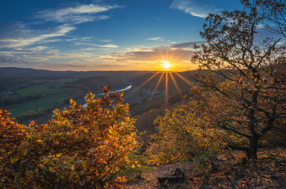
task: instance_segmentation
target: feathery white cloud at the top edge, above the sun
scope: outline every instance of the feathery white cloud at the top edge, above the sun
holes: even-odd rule
[[[178,9],[190,15],[206,18],[209,12],[216,13],[220,9],[215,9],[213,5],[206,5],[190,0],[174,0],[170,9]]]

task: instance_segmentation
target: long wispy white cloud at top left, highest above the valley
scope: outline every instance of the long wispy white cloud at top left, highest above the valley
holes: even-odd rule
[[[119,8],[119,5],[79,5],[77,7],[68,7],[57,10],[45,10],[38,12],[37,17],[46,21],[56,21],[64,23],[83,23],[89,21],[104,20],[110,18],[108,15],[94,15],[111,9]]]

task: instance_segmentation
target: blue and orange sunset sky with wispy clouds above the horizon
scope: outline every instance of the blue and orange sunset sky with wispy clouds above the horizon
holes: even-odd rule
[[[208,13],[235,9],[239,0],[1,1],[0,67],[193,70]]]

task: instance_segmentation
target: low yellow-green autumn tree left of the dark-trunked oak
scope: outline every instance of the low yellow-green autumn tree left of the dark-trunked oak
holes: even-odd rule
[[[196,171],[206,171],[217,155],[225,149],[226,141],[236,138],[226,135],[221,130],[211,128],[214,123],[205,103],[192,100],[189,105],[180,105],[166,110],[164,116],[158,116],[154,125],[158,133],[152,136],[154,141],[147,149],[150,163],[193,161]]]

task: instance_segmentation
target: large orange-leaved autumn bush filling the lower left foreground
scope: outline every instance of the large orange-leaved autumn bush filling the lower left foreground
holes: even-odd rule
[[[56,109],[43,125],[20,125],[0,109],[0,186],[6,188],[124,188],[114,176],[137,166],[128,154],[137,142],[123,93],[108,94],[82,107]],[[116,103],[113,98],[117,99]]]

